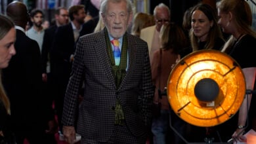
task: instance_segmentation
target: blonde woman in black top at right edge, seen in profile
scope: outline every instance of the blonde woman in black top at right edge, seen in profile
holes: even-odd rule
[[[224,33],[231,36],[222,51],[229,54],[238,62],[244,72],[246,89],[253,90],[256,76],[255,45],[256,33],[253,31],[252,12],[244,0],[222,0],[217,4],[219,25]],[[238,122],[232,126],[232,139],[246,141],[242,134],[248,126],[247,113],[251,103],[251,94],[246,94],[238,113]],[[251,104],[251,105],[255,105]],[[252,117],[255,116],[253,112]],[[255,124],[251,128],[256,131]]]

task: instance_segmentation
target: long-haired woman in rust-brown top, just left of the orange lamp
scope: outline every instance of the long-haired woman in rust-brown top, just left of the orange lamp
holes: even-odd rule
[[[161,27],[160,45],[161,48],[154,52],[151,63],[152,81],[156,86],[154,105],[160,105],[161,103],[160,113],[158,115],[154,113],[152,120],[152,134],[156,144],[168,143],[167,139],[171,137],[167,135],[169,134],[169,115],[171,112],[169,102],[167,96],[160,96],[159,92],[165,90],[169,73],[171,73],[173,65],[180,59],[179,50],[188,46],[188,39],[180,26],[170,23]],[[176,121],[172,119],[172,123],[176,123]],[[181,127],[184,127],[184,124]],[[181,130],[184,133],[184,129],[179,128],[179,132]],[[174,141],[178,141],[178,139],[175,137]]]

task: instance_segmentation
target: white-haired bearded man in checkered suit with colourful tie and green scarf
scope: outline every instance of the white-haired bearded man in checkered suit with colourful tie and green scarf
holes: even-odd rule
[[[146,143],[154,88],[148,46],[126,32],[131,5],[130,0],[102,1],[106,28],[77,42],[62,117],[68,143],[74,143],[75,131],[81,143]]]

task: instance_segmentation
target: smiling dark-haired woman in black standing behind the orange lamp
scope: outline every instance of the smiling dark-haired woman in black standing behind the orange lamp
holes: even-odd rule
[[[190,52],[197,50],[221,50],[225,41],[221,27],[217,22],[217,10],[205,3],[198,3],[191,10],[191,29],[190,29]],[[190,53],[186,52],[186,54]],[[222,141],[219,136],[219,127],[202,128],[190,126],[190,137],[193,142]]]

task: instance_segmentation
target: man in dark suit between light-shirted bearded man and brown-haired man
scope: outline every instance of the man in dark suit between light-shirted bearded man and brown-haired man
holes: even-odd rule
[[[51,73],[51,63],[53,60],[52,56],[52,46],[53,46],[53,40],[55,31],[59,26],[64,26],[68,24],[68,9],[65,7],[59,7],[54,12],[54,18],[55,18],[55,24],[54,26],[49,27],[48,29],[45,29],[45,35],[43,37],[43,46],[42,46],[42,53],[41,53],[41,60],[42,60],[42,66],[43,66],[43,74],[42,74],[42,80],[43,80],[43,92],[44,97],[47,99],[48,105],[53,105],[54,97],[56,94],[58,94],[58,89],[55,88],[57,84],[54,84],[54,77]],[[55,87],[54,87],[55,86]],[[53,109],[52,109],[53,110]],[[54,111],[53,113],[49,113],[48,118],[54,117]],[[53,121],[52,130],[55,130],[57,124],[56,121]],[[49,132],[49,134],[55,134],[55,132]]]

